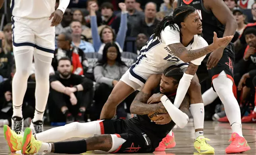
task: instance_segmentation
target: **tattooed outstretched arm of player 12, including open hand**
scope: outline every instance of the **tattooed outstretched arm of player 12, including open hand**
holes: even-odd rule
[[[167,46],[182,61],[190,62],[192,60],[196,60],[200,57],[203,57],[204,55],[207,55],[208,53],[211,53],[215,49],[219,49],[221,47],[225,48],[229,44],[229,42],[231,42],[232,38],[233,38],[233,36],[217,38],[217,34],[214,32],[213,43],[211,43],[211,45],[208,45],[208,46],[200,48],[200,49],[188,51],[182,43],[173,43],[173,44],[169,44]]]

